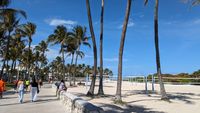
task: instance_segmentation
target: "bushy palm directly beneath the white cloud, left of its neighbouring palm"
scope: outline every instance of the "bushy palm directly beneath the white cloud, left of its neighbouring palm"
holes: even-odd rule
[[[57,26],[54,30],[54,33],[48,37],[47,42],[52,43],[52,45],[60,44],[60,52],[62,53],[62,63],[63,63],[63,77],[65,76],[65,56],[64,56],[64,47],[68,43],[70,33],[67,31],[65,26]]]

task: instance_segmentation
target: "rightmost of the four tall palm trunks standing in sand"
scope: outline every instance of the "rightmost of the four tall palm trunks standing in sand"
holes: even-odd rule
[[[162,81],[161,66],[160,66],[160,54],[159,54],[159,38],[158,38],[158,4],[159,0],[156,0],[155,3],[155,12],[154,12],[154,31],[155,31],[155,49],[156,49],[156,66],[157,74],[160,84],[160,93],[162,100],[168,100],[167,94],[165,92],[165,87]]]

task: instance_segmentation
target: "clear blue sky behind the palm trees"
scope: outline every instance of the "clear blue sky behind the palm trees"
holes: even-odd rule
[[[99,52],[101,0],[90,0]],[[156,72],[153,13],[154,0],[145,7],[144,0],[134,0],[126,35],[123,75]],[[37,24],[33,45],[45,40],[56,25],[69,29],[77,24],[87,27],[85,0],[13,0],[11,7],[22,9],[27,20]],[[104,67],[117,74],[118,50],[126,8],[126,0],[105,0]],[[160,0],[159,38],[163,73],[191,73],[200,69],[200,7],[190,7],[180,0]],[[49,60],[58,55],[58,46],[50,47]],[[92,49],[82,48],[86,56],[79,63],[93,64]],[[67,62],[70,58],[67,58]]]

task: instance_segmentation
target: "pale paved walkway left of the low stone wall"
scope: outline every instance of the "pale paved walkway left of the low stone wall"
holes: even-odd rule
[[[25,94],[24,103],[18,102],[18,95],[13,91],[0,99],[0,113],[66,113],[62,103],[48,84],[40,89],[37,102],[30,101],[30,94]]]

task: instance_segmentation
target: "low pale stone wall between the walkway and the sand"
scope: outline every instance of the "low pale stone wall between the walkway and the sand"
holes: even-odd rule
[[[56,86],[53,84],[52,89],[56,91]],[[66,107],[67,113],[104,113],[103,109],[97,107],[80,97],[67,92],[60,92],[60,100]]]

